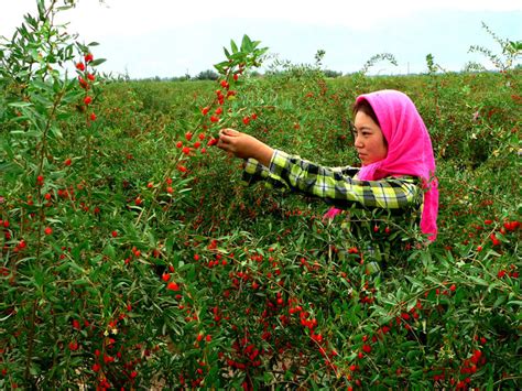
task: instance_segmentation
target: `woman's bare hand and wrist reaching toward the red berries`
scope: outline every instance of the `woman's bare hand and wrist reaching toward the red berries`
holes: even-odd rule
[[[270,164],[273,154],[273,149],[265,143],[233,129],[222,129],[219,132],[217,146],[232,153],[236,158],[253,158],[264,166]]]

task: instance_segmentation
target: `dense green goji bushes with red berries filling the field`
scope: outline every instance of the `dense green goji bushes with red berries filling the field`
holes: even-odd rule
[[[217,82],[113,80],[54,23],[72,2],[37,4],[0,43],[0,388],[520,388],[520,70],[255,77],[243,36]],[[409,216],[246,186],[214,148],[232,127],[356,162],[350,105],[381,88],[434,141],[429,247]]]

